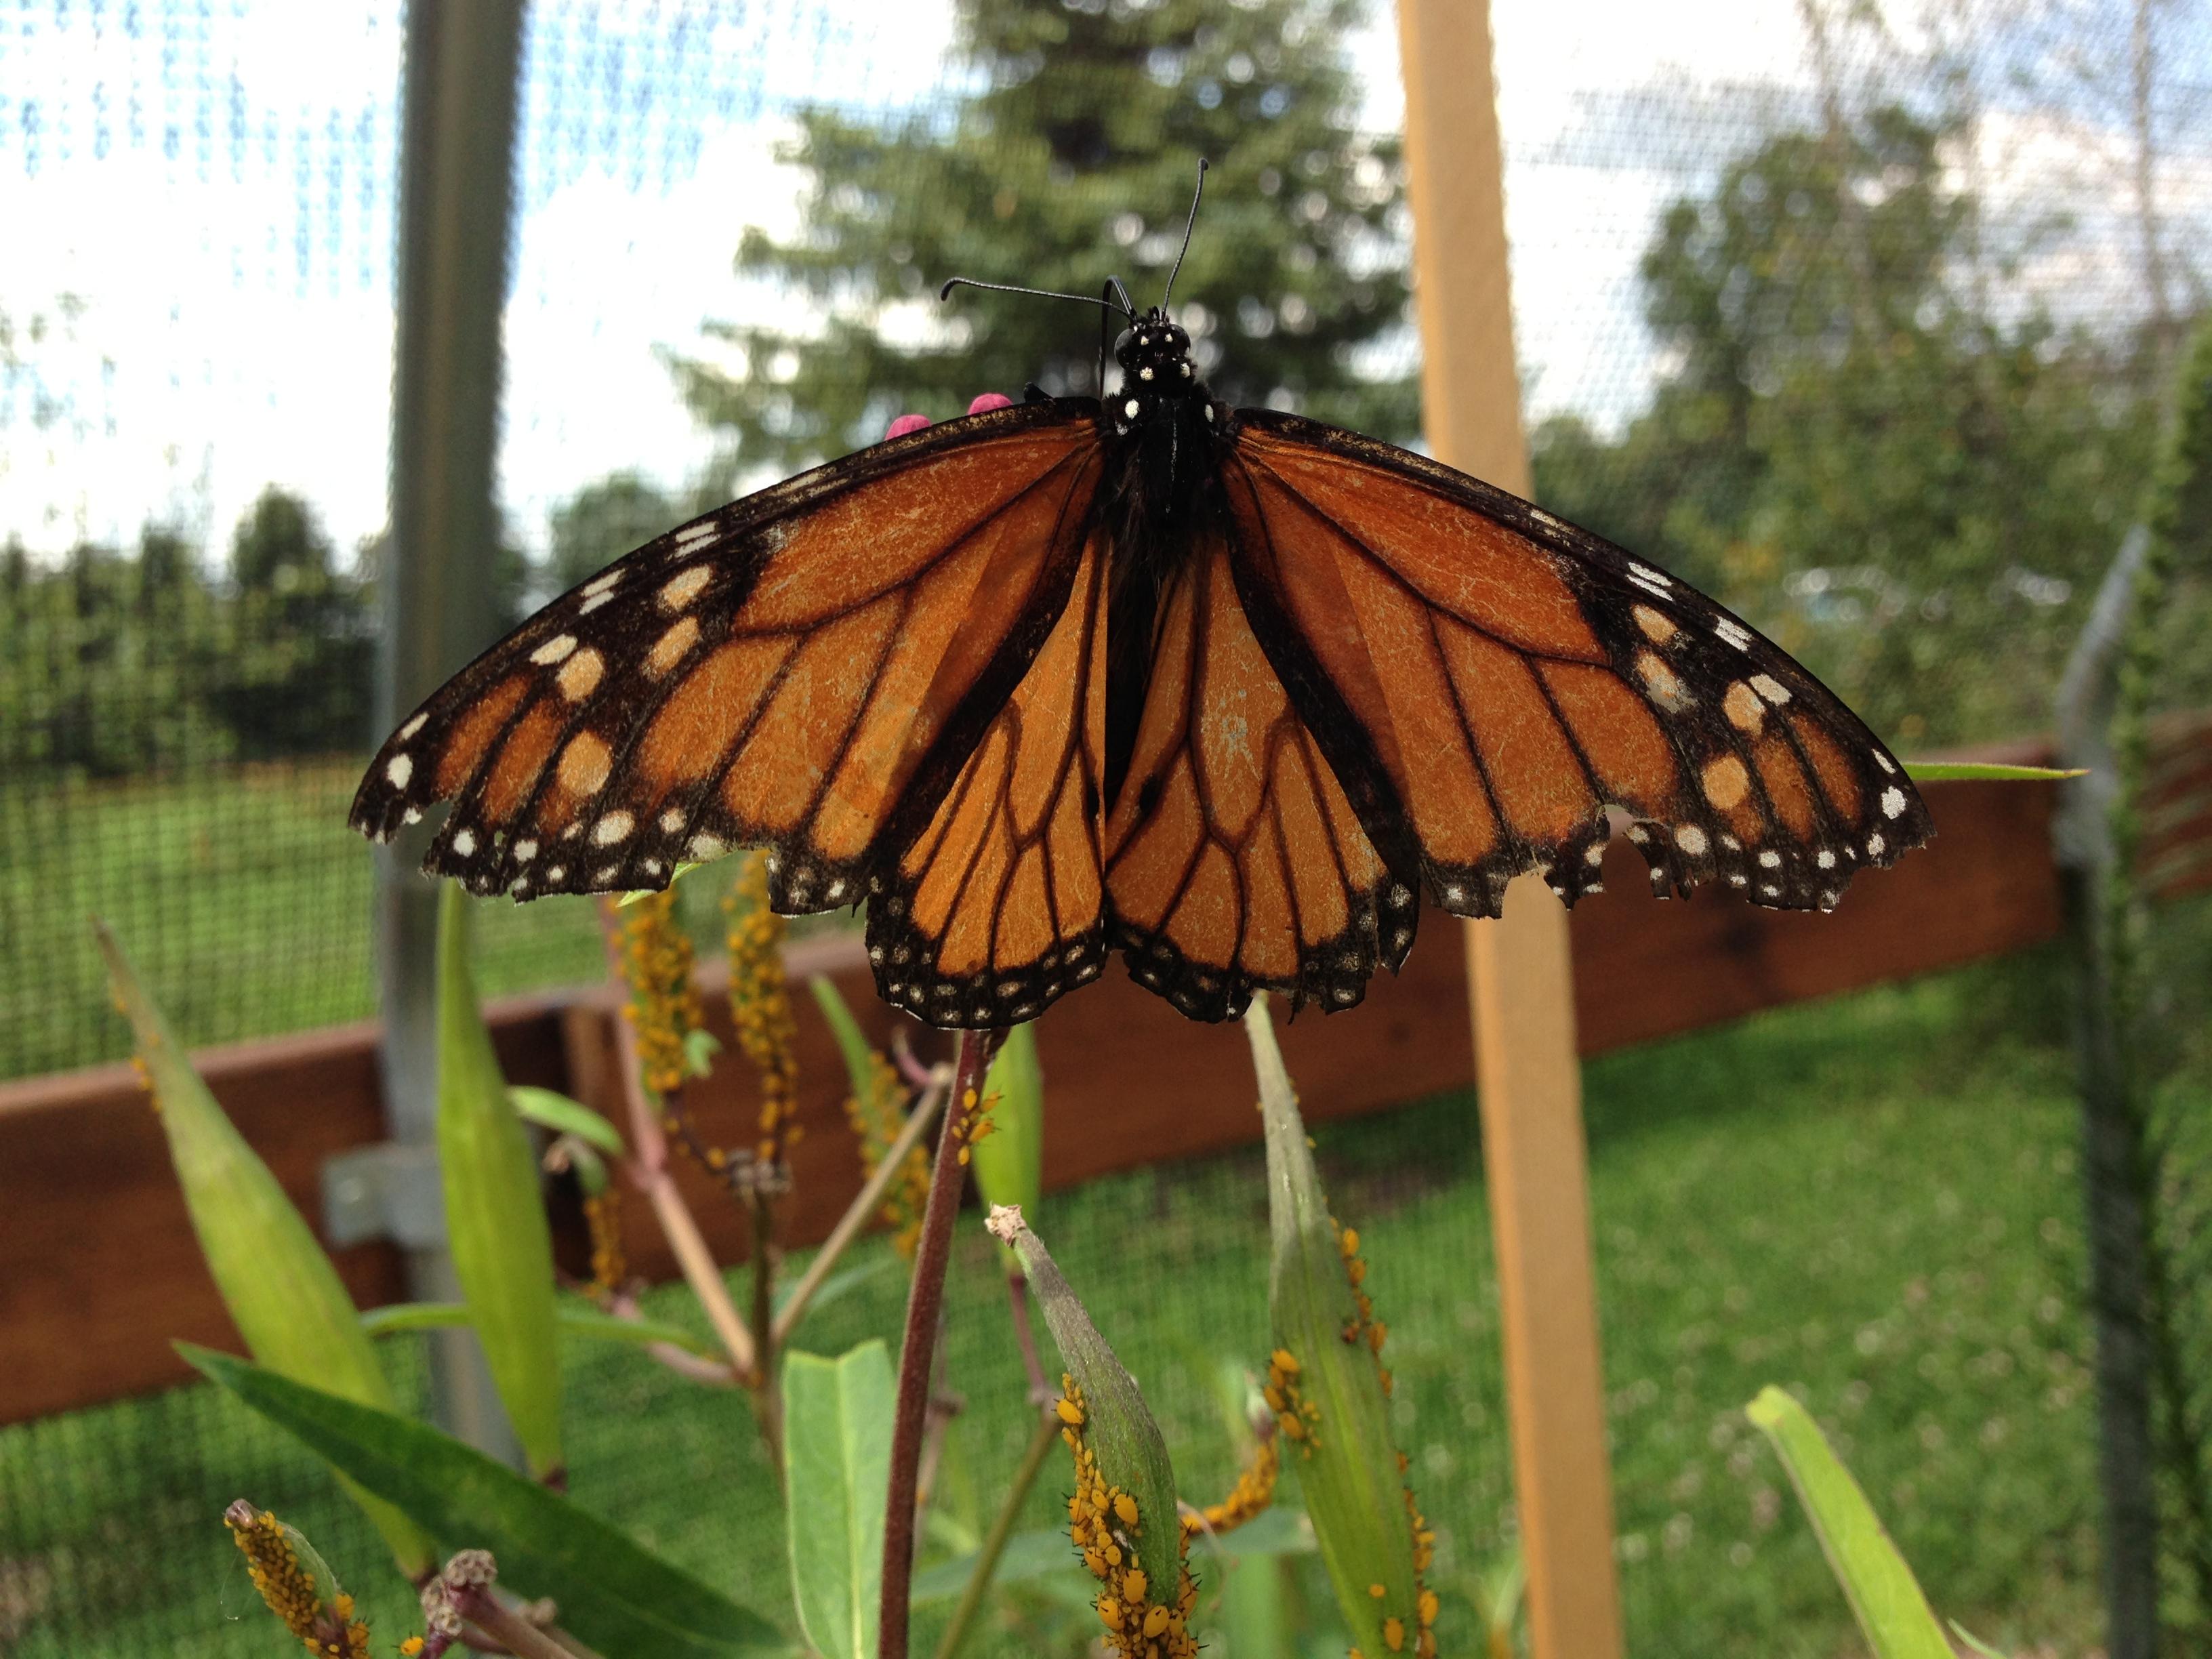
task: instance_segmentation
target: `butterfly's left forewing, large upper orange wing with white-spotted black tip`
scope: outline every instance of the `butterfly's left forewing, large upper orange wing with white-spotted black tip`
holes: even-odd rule
[[[1075,400],[995,409],[670,531],[422,703],[354,827],[453,801],[425,869],[476,894],[666,887],[759,845],[779,911],[858,902],[1095,586],[1099,451]]]

